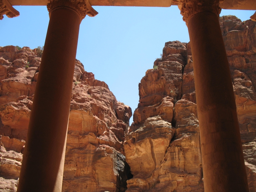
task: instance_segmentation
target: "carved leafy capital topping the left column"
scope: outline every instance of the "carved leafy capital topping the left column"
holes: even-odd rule
[[[49,11],[49,15],[55,9],[59,8],[67,8],[75,11],[80,16],[81,20],[85,18],[86,15],[90,17],[94,17],[98,14],[95,11],[89,0],[48,0],[50,3],[47,4],[47,10]]]

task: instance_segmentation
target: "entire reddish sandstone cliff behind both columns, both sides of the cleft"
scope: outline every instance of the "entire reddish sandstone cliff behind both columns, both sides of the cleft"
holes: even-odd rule
[[[220,26],[256,192],[256,22],[223,16]],[[35,49],[0,47],[0,191],[17,190],[40,62]],[[139,96],[129,127],[131,108],[76,60],[62,191],[204,191],[189,43],[165,43]]]

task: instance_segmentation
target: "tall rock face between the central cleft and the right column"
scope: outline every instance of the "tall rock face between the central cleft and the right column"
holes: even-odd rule
[[[126,191],[204,190],[196,104],[181,99],[195,91],[187,47],[165,43],[163,57],[139,84],[140,103],[124,144],[133,174]]]

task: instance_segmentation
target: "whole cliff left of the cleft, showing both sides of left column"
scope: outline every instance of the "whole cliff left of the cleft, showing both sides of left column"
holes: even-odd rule
[[[0,62],[0,189],[16,191],[41,58],[28,47],[6,46]],[[124,156],[131,108],[79,60],[71,99],[62,191],[125,191],[132,177]]]

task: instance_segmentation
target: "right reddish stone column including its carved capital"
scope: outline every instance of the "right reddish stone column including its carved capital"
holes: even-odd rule
[[[184,0],[191,43],[205,192],[249,192],[218,0]]]

